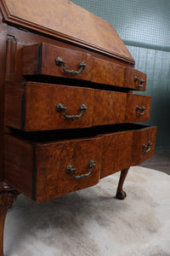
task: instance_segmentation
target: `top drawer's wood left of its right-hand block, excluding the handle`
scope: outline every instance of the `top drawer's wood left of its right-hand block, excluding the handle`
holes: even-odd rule
[[[55,64],[56,57],[66,61],[65,68],[78,71],[82,61],[86,67],[80,74],[65,73]],[[124,86],[125,67],[104,61],[81,51],[57,47],[51,44],[34,44],[23,47],[23,74],[49,75],[69,79],[82,79],[99,84]]]

